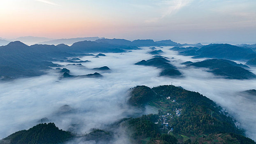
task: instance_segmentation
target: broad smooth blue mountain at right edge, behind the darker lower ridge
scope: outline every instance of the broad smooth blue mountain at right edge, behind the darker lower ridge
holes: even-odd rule
[[[194,58],[222,58],[229,60],[249,60],[256,57],[256,53],[248,48],[231,44],[209,44],[196,51]]]

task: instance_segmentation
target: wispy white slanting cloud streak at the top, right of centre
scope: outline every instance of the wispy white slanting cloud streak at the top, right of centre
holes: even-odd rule
[[[166,0],[161,2],[161,8],[164,6],[168,6],[167,10],[165,10],[162,14],[162,16],[146,20],[145,22],[151,23],[151,22],[157,22],[166,16],[169,16],[171,14],[174,14],[179,9],[182,9],[182,7],[188,6],[193,0]]]

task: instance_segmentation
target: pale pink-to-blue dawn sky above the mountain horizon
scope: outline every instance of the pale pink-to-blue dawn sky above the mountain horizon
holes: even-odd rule
[[[256,43],[256,0],[1,0],[0,37]]]

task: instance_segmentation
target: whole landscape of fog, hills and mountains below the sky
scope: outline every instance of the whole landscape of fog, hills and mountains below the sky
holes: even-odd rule
[[[255,44],[0,46],[0,144],[256,144]]]

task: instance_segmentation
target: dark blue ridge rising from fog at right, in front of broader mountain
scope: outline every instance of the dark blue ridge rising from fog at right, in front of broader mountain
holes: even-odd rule
[[[226,79],[253,79],[256,75],[249,70],[240,67],[240,64],[230,60],[209,59],[196,63],[186,63],[188,66],[206,67],[209,72],[218,76],[223,76]],[[237,66],[238,65],[238,66]]]

